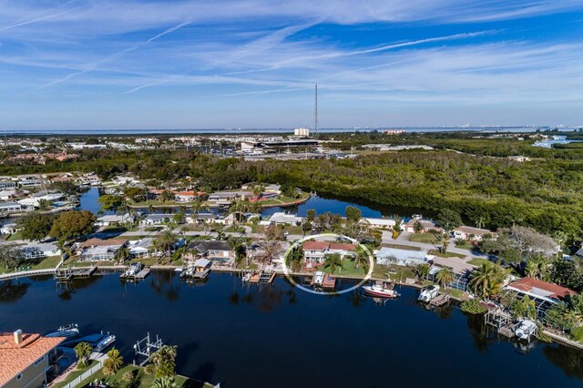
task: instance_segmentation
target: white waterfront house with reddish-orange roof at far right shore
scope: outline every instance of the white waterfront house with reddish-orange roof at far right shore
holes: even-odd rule
[[[539,281],[534,278],[522,278],[506,285],[505,290],[513,291],[518,300],[525,296],[535,302],[539,318],[545,316],[547,310],[557,301],[564,301],[569,295],[577,295],[577,291],[559,286],[547,281]]]

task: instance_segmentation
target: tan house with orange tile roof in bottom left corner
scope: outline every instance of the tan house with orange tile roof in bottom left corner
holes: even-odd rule
[[[56,366],[56,346],[64,337],[40,334],[0,333],[0,386],[36,388],[46,386],[47,374]]]

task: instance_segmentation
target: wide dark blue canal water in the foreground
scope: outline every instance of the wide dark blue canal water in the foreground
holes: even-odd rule
[[[77,322],[118,335],[126,360],[147,332],[179,346],[178,372],[225,387],[556,386],[583,383],[583,352],[529,352],[487,337],[456,308],[427,311],[416,291],[375,305],[359,293],[312,295],[283,279],[243,286],[211,273],[202,286],[156,271],[138,284],[117,275],[56,289],[49,278],[0,283],[0,330],[47,332]]]

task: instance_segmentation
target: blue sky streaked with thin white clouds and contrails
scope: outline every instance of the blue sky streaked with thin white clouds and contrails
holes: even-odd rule
[[[583,2],[0,0],[0,129],[581,125]]]

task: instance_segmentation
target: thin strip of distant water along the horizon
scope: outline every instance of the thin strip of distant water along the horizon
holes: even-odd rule
[[[342,133],[342,132],[370,132],[373,130],[402,129],[405,132],[452,132],[452,131],[485,131],[485,132],[534,132],[537,129],[547,129],[547,127],[395,127],[395,128],[321,128],[322,133]],[[566,128],[568,129],[568,128]],[[293,133],[293,128],[208,128],[208,129],[5,129],[3,135],[202,135],[202,134],[273,134],[273,133]]]

